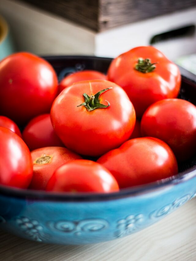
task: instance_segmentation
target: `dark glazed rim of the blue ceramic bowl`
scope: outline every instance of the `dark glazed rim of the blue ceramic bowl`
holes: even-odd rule
[[[54,60],[54,59],[104,59],[104,60],[112,60],[109,57],[97,57],[97,56],[85,56],[85,55],[50,55],[43,56],[46,60]],[[179,66],[180,67],[180,66]],[[192,82],[196,84],[196,76],[189,71],[180,67],[180,71],[182,73],[182,78],[185,81]],[[169,189],[175,185],[181,184],[185,181],[189,181],[192,178],[196,177],[196,166],[189,168],[183,172],[178,173],[177,175],[161,179],[159,181],[154,181],[148,184],[138,185],[130,188],[123,188],[119,192],[112,193],[62,193],[62,192],[46,192],[41,190],[30,190],[30,189],[20,189],[9,187],[5,185],[0,185],[0,196],[8,196],[8,197],[17,197],[28,200],[47,200],[47,201],[62,201],[62,202],[83,202],[83,201],[107,201],[114,199],[121,199],[126,197],[135,197],[141,196],[143,194],[149,194],[152,192],[157,192],[164,189]],[[196,189],[195,189],[196,192]]]

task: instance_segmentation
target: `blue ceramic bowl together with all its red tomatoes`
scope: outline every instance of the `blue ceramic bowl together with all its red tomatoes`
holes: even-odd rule
[[[40,64],[30,76],[24,60],[26,88],[43,66],[35,93],[44,101],[28,100],[21,85],[17,97],[17,76],[0,80],[9,84],[0,114],[20,127],[0,127],[1,229],[38,242],[98,243],[144,229],[196,196],[196,81],[153,47],[137,48],[114,60],[44,57],[54,72]]]

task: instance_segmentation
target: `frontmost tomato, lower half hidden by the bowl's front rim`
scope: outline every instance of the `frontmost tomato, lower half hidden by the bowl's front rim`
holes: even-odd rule
[[[99,163],[79,159],[55,170],[47,184],[55,192],[117,192],[119,185],[112,174]]]

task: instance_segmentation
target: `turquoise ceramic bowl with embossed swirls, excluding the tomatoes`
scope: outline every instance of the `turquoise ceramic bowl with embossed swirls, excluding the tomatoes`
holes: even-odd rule
[[[80,69],[106,72],[109,58],[47,57],[61,79]],[[183,76],[180,98],[195,103],[196,83]],[[141,163],[142,164],[142,163]],[[196,157],[175,177],[111,194],[49,194],[0,187],[0,229],[30,240],[91,244],[135,233],[196,196]]]

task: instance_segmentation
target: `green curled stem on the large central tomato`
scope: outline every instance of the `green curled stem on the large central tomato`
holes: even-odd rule
[[[107,107],[109,107],[110,103],[108,101],[106,101],[107,105],[101,104],[99,97],[100,97],[100,95],[103,92],[108,91],[110,89],[112,89],[112,87],[104,89],[104,90],[101,90],[101,91],[97,92],[95,95],[91,95],[90,97],[89,97],[88,94],[84,93],[83,96],[85,98],[85,102],[80,104],[80,105],[78,105],[77,107],[85,106],[88,111],[95,110],[95,109],[98,109],[98,108],[107,108]]]

